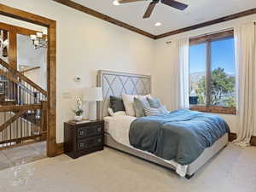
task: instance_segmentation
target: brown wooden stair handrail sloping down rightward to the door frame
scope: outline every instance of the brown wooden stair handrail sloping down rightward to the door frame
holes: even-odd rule
[[[7,68],[11,73],[14,73],[16,76],[18,76],[20,79],[25,81],[27,84],[30,84],[33,88],[36,90],[39,90],[44,96],[47,96],[47,91],[41,88],[38,84],[35,84],[32,82],[31,79],[26,78],[26,76],[20,72],[18,72],[15,67],[12,67],[9,65],[6,61],[3,61],[3,59],[0,58],[0,64],[3,65],[3,67]]]

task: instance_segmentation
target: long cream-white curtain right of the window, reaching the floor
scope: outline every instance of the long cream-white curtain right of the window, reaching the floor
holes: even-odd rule
[[[256,125],[256,49],[255,25],[235,27],[236,96],[239,120],[236,144],[247,147]]]

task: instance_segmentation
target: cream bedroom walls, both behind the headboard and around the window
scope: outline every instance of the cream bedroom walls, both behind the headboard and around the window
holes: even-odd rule
[[[75,99],[82,96],[81,90],[85,86],[96,85],[97,70],[151,74],[153,94],[170,106],[172,87],[168,82],[171,80],[169,72],[172,53],[165,42],[174,38],[215,32],[242,22],[256,20],[256,15],[251,15],[154,41],[51,0],[0,0],[0,3],[57,20],[58,143],[63,141],[63,122],[73,118],[71,108]],[[7,18],[4,20],[9,21]],[[9,22],[17,23],[16,20]],[[31,24],[21,22],[21,26],[31,26]],[[42,28],[31,27],[37,30]],[[75,77],[81,77],[81,82],[74,82]],[[220,116],[229,123],[231,131],[236,131],[236,115],[220,114]]]

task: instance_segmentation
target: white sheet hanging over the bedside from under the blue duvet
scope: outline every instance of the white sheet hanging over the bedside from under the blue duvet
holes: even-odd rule
[[[113,137],[113,139],[121,143],[129,148],[133,148],[129,142],[129,130],[130,125],[133,120],[137,119],[136,117],[131,116],[115,116],[115,117],[105,117],[105,131]],[[148,153],[146,151],[142,151],[140,149],[134,148],[143,153],[150,154],[155,156],[154,154]],[[155,156],[156,157],[156,156]],[[157,157],[160,158],[160,157]],[[160,158],[161,159],[161,158]],[[164,159],[161,159],[164,160]],[[165,160],[167,163],[170,163],[172,166],[176,167],[176,172],[181,177],[185,177],[187,174],[188,166],[182,166],[175,162],[174,160]]]

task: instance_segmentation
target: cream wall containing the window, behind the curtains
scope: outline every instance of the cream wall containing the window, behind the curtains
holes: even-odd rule
[[[249,21],[255,21],[256,15],[247,16],[237,20],[230,20],[228,22],[220,23],[214,26],[207,26],[198,30],[183,32],[172,37],[162,38],[156,41],[155,44],[155,61],[154,61],[154,70],[153,70],[153,92],[160,97],[160,99],[166,103],[167,106],[171,106],[170,97],[172,96],[172,87],[168,82],[171,81],[170,71],[171,71],[171,62],[170,58],[172,52],[170,51],[170,46],[166,44],[167,41],[171,41],[176,38],[183,37],[195,37],[207,32],[216,32],[218,30],[227,29],[234,27],[241,23],[246,23]],[[229,114],[218,114],[223,117],[227,123],[230,125],[232,132],[236,132],[237,125],[237,116]],[[256,135],[256,130],[254,131]]]

